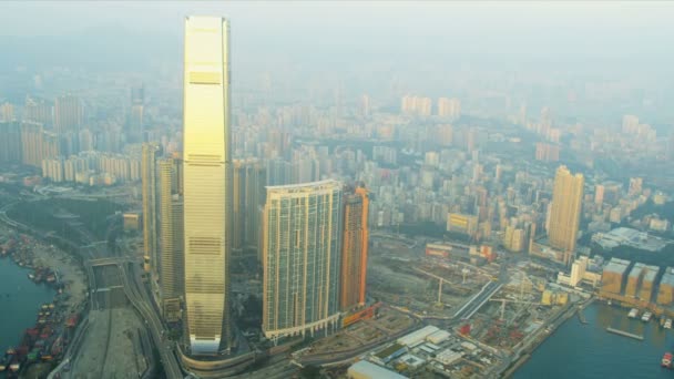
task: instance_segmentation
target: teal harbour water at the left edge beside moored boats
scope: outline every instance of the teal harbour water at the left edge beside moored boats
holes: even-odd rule
[[[0,350],[21,342],[27,328],[35,325],[40,306],[51,303],[55,291],[28,278],[30,270],[11,258],[0,259]]]

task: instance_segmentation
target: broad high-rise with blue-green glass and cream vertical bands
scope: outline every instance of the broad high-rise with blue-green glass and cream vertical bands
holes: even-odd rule
[[[339,320],[341,184],[267,187],[263,232],[265,337],[314,334]]]

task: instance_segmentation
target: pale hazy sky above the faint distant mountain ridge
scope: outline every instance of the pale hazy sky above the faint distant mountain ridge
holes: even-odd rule
[[[657,54],[672,50],[674,3],[661,2],[2,2],[1,35],[69,35],[126,29],[181,35],[186,14],[232,20],[245,49],[319,50],[421,44],[438,50]],[[326,49],[326,45],[327,49]]]

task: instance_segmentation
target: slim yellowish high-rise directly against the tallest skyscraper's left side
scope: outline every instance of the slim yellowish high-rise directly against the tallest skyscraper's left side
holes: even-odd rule
[[[164,158],[159,167],[160,299],[164,318],[180,319],[183,295],[183,198],[180,193],[181,161]]]

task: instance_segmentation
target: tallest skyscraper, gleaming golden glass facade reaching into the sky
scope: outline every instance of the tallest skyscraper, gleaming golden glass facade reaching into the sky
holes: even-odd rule
[[[232,347],[229,254],[229,23],[185,20],[184,57],[185,308],[192,355]]]

